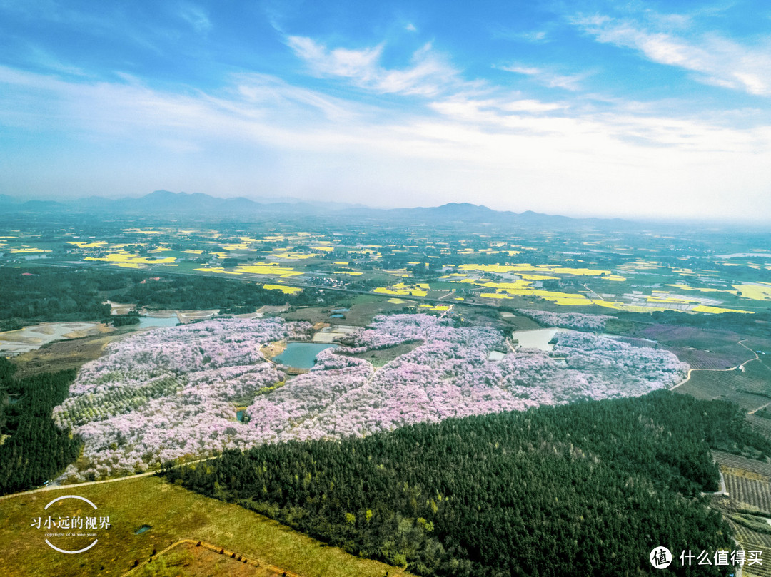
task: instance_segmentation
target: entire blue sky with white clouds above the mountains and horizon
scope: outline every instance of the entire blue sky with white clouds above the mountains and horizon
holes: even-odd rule
[[[771,220],[766,2],[0,0],[0,193]]]

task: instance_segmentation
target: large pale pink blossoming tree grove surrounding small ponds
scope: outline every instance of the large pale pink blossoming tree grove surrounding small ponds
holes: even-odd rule
[[[211,320],[151,330],[86,364],[56,421],[85,441],[63,478],[100,478],[184,456],[292,439],[342,438],[420,421],[540,404],[645,394],[682,379],[688,366],[667,351],[575,331],[550,353],[505,351],[500,331],[453,327],[426,314],[375,317],[287,379],[260,353],[275,340],[302,340],[307,323]],[[368,351],[418,343],[383,367]],[[281,384],[286,381],[283,386]],[[244,422],[235,405],[249,404]]]

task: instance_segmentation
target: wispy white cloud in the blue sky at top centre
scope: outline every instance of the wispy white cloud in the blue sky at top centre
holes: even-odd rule
[[[433,96],[460,82],[459,72],[436,54],[430,44],[412,54],[408,67],[386,69],[380,64],[383,44],[362,49],[328,49],[302,36],[289,36],[287,42],[313,74],[349,79],[356,86],[375,92]]]

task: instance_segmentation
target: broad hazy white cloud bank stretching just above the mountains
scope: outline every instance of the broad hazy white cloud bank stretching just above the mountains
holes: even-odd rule
[[[263,190],[630,216],[738,217],[752,205],[750,216],[762,218],[769,210],[769,126],[735,129],[720,119],[678,119],[635,106],[579,113],[517,94],[457,92],[434,99],[433,115],[385,115],[270,75],[231,81],[216,92],[175,94],[0,67],[5,142],[31,133],[71,139],[24,163],[6,149],[0,189],[26,182],[29,190],[40,179],[56,190],[66,184],[79,194],[99,193],[84,186],[114,183],[120,173],[120,186],[130,189],[123,193],[142,186],[226,196]],[[72,166],[89,166],[83,158],[93,150],[109,154],[93,162],[99,178],[89,173],[84,184]],[[734,190],[742,191],[742,203]]]

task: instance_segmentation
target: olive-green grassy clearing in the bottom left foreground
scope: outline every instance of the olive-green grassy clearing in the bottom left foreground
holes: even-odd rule
[[[89,551],[63,555],[45,545],[44,528],[30,526],[32,518],[45,518],[48,502],[62,495],[87,498],[97,505],[98,515],[109,516],[112,527],[99,531],[99,542]],[[132,569],[135,561],[150,559],[153,549],[163,551],[182,539],[209,542],[247,559],[258,559],[280,567],[288,574],[292,572],[302,577],[373,577],[385,575],[386,571],[389,575],[408,575],[398,568],[359,559],[341,549],[322,545],[307,535],[238,505],[197,495],[152,476],[20,495],[0,501],[0,506],[5,577],[120,577]],[[83,503],[82,511],[70,514],[86,516],[91,511],[89,505]],[[136,535],[137,529],[143,525],[150,525],[150,529]],[[173,559],[173,555],[169,559]],[[226,568],[228,565],[222,566]],[[200,568],[200,564],[196,563],[195,567]],[[215,566],[209,565],[203,572],[192,569],[191,572],[170,574],[217,577],[236,574],[227,572],[227,569],[224,569],[225,572],[213,572],[214,569]]]

